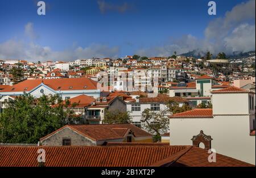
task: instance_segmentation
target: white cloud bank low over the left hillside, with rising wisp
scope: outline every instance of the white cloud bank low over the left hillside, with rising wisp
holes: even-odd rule
[[[119,48],[117,46],[110,47],[108,45],[92,44],[85,48],[81,46],[73,47],[68,50],[56,51],[49,46],[40,46],[34,43],[37,37],[34,32],[33,24],[27,23],[24,33],[30,37],[31,42],[25,43],[22,40],[8,40],[0,43],[1,59],[24,59],[30,61],[46,61],[46,60],[76,60],[77,58],[92,57],[118,57]]]

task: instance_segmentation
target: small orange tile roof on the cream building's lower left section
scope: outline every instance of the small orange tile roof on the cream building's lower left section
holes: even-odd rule
[[[209,118],[213,117],[212,109],[192,109],[191,111],[185,111],[176,113],[170,116],[171,118]]]

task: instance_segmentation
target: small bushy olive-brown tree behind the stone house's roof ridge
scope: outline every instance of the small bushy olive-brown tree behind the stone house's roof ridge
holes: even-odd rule
[[[124,124],[131,122],[129,112],[120,112],[118,109],[114,111],[105,110],[104,124]]]

